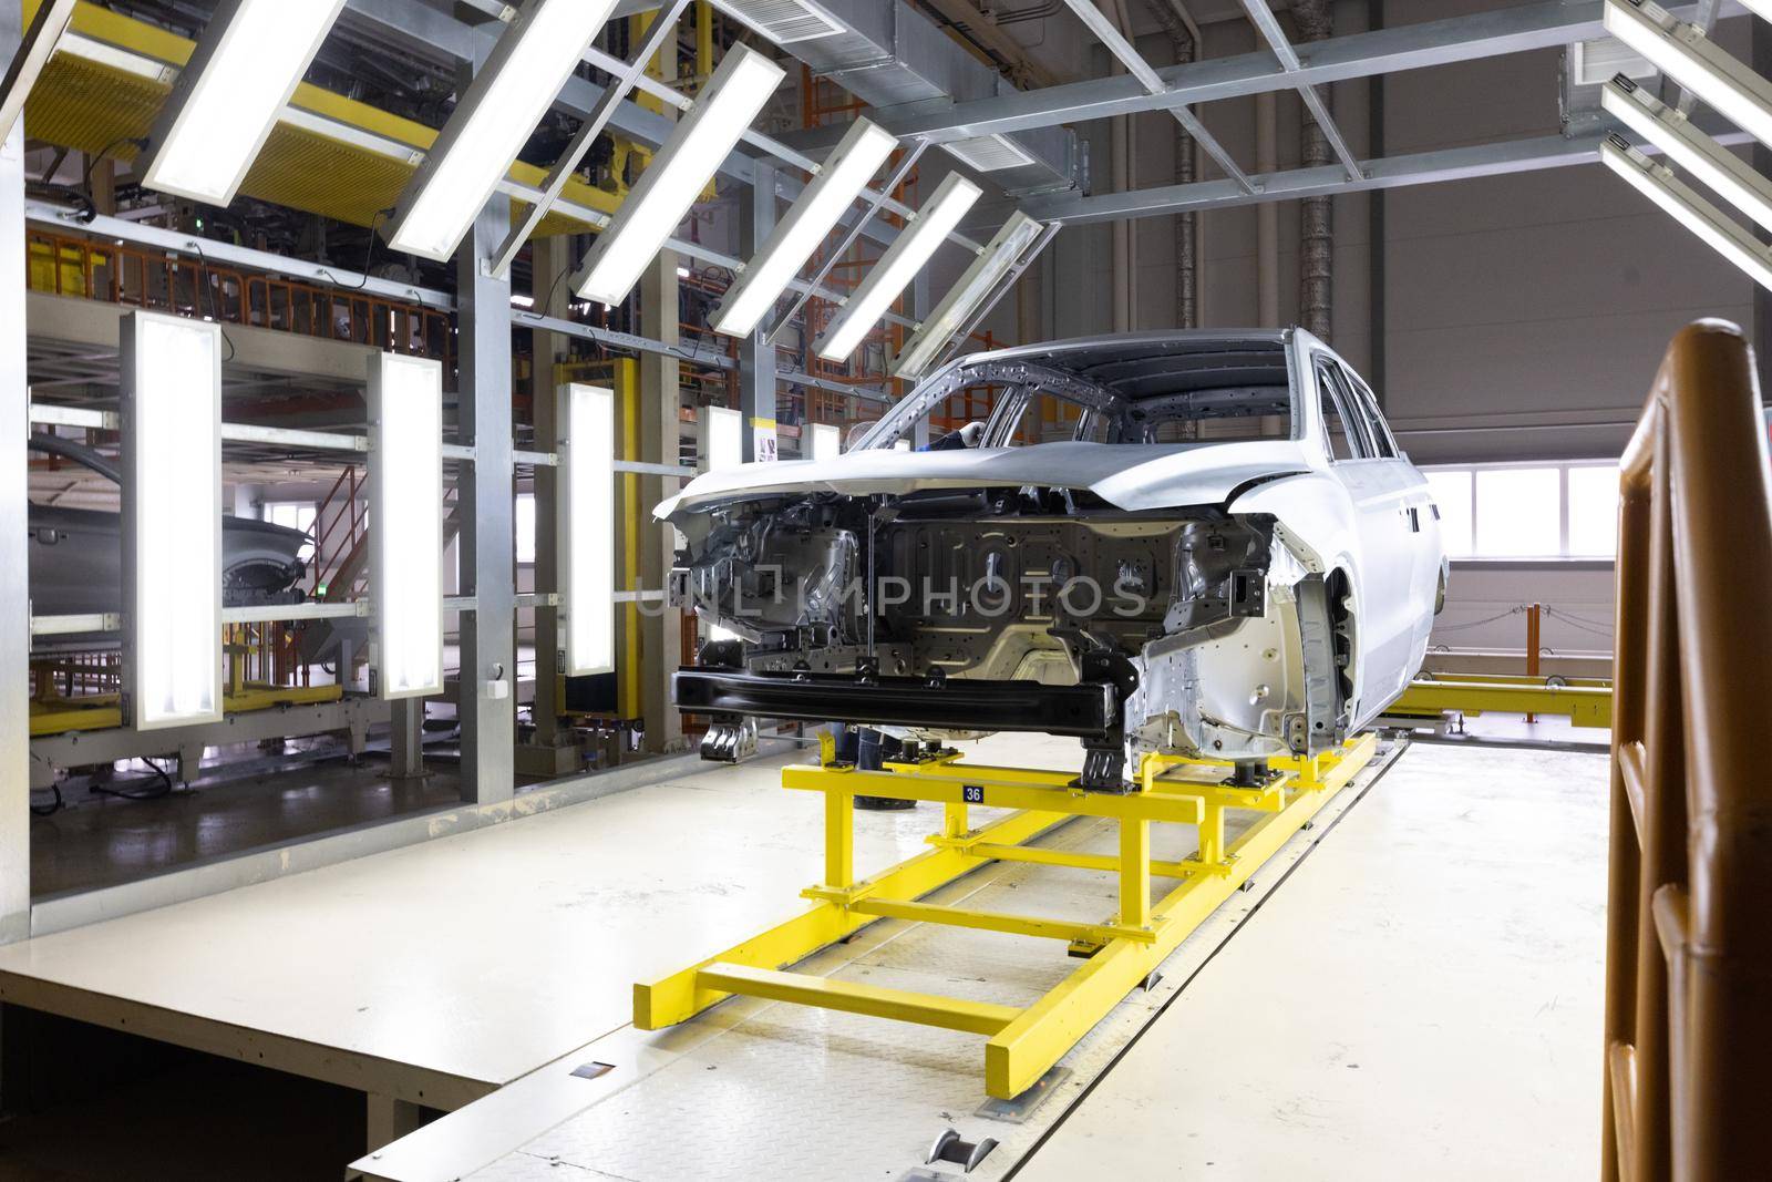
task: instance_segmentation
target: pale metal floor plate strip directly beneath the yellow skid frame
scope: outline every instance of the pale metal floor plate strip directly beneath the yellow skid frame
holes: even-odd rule
[[[1391,758],[1393,753],[1384,753],[1373,760],[1327,803],[1311,831],[1276,854],[1256,875],[1255,890],[1219,907],[1164,962],[1155,989],[1134,992],[1072,1049],[1061,1063],[1069,1076],[1019,1122],[978,1115],[989,1097],[983,1038],[976,1035],[737,998],[657,1035],[633,1030],[611,1035],[629,1047],[634,1040],[645,1044],[656,1069],[640,1077],[631,1074],[599,1102],[470,1177],[477,1182],[562,1177],[828,1182],[902,1178],[916,1170],[937,1178],[962,1177],[959,1166],[923,1166],[930,1143],[952,1125],[968,1141],[985,1136],[999,1141],[969,1177],[1003,1178]],[[1235,833],[1237,822],[1247,824],[1255,815],[1232,813],[1232,819]],[[1086,819],[1042,844],[1109,854],[1118,849],[1113,822]],[[1189,852],[1191,828],[1157,828],[1155,856],[1178,859]],[[1166,884],[1157,881],[1159,890]],[[999,863],[934,898],[1100,921],[1116,906],[1116,884],[1104,872]],[[792,907],[794,900],[781,900],[783,914]],[[684,960],[695,955],[698,950],[684,950]],[[803,971],[1028,1005],[1074,968],[1065,945],[1054,939],[882,921],[851,945],[819,953]],[[599,1046],[587,1046],[581,1056],[601,1058]],[[617,1053],[608,1058],[615,1061]],[[457,1118],[470,1115],[471,1108]]]

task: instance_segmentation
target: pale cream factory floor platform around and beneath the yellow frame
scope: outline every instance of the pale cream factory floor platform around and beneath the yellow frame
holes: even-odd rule
[[[978,746],[1079,762],[1065,741]],[[459,1109],[377,1177],[907,1178],[950,1124],[1003,1143],[985,1180],[1108,1161],[1123,1177],[1591,1173],[1602,757],[1416,744],[1363,773],[1022,1124],[980,1115],[969,1035],[748,999],[657,1035],[627,1024],[636,980],[792,913],[819,877],[820,803],[780,789],[787,758],[804,755],[0,948],[0,999]],[[858,868],[920,852],[930,812],[859,813]],[[1093,849],[1097,829],[1060,840]],[[959,886],[1022,911],[1111,907],[1090,872],[1028,870]],[[888,921],[824,955],[1010,1003],[1069,968],[1044,941],[952,936]],[[617,1070],[571,1074],[592,1060]],[[434,1173],[393,1164],[427,1154]]]

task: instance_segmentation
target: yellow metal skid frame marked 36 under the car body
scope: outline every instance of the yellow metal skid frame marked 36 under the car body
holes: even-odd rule
[[[1200,923],[1286,844],[1377,753],[1363,735],[1317,758],[1272,760],[1274,780],[1242,789],[1223,783],[1228,766],[1214,760],[1146,757],[1138,790],[1084,792],[1069,773],[973,767],[957,757],[888,764],[858,771],[831,762],[824,743],[819,767],[787,767],[789,789],[824,792],[824,881],[803,891],[808,911],[656,982],[634,985],[634,1024],[659,1030],[686,1021],[734,994],[792,1001],[900,1023],[985,1035],[985,1090],[1010,1099],[1035,1085],[1095,1023],[1175,952]],[[930,852],[870,879],[854,875],[854,797],[882,796],[943,805],[943,829]],[[973,829],[969,808],[1019,812]],[[1226,810],[1262,813],[1233,842]],[[1076,817],[1116,822],[1120,854],[1077,854],[1031,845]],[[1200,852],[1154,861],[1150,824],[1191,824]],[[930,891],[991,863],[1108,870],[1120,877],[1120,911],[1102,923],[1003,914],[923,900]],[[1152,877],[1178,884],[1152,900]],[[882,989],[861,982],[785,971],[813,952],[877,920],[943,923],[1069,941],[1088,959],[1026,1008]]]

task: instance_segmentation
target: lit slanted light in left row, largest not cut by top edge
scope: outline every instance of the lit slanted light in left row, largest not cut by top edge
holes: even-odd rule
[[[750,46],[727,51],[572,276],[579,296],[597,303],[627,298],[781,78],[783,69]]]

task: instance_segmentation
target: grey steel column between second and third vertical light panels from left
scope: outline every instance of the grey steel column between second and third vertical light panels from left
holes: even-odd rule
[[[455,257],[461,408],[459,434],[475,448],[461,478],[461,794],[489,805],[512,796],[517,739],[516,528],[510,443],[510,280],[486,261],[510,230],[510,204],[494,197]]]

